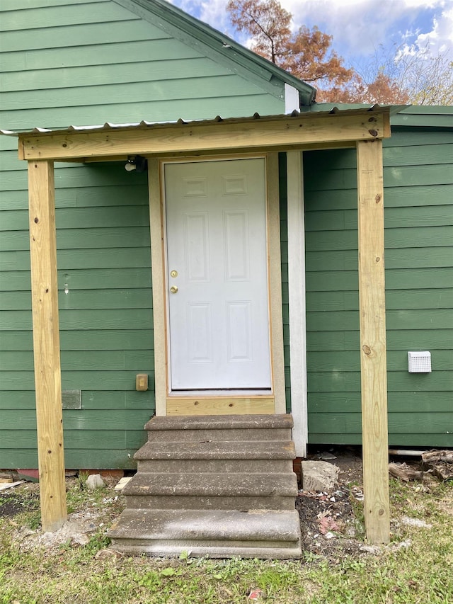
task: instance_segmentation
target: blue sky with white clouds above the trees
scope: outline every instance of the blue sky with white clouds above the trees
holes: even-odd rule
[[[227,0],[173,0],[173,4],[230,35],[243,45],[226,13]],[[333,48],[347,66],[364,67],[380,49],[405,52],[428,48],[453,60],[453,0],[280,0],[294,26],[318,25],[333,35]]]

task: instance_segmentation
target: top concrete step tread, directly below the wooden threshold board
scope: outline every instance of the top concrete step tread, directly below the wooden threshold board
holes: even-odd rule
[[[294,422],[289,414],[280,415],[202,415],[202,416],[159,416],[153,417],[145,430],[231,430],[292,428]]]

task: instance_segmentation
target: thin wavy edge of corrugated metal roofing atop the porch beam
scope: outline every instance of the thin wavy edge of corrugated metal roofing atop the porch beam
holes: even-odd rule
[[[367,113],[372,112],[374,110],[382,110],[384,108],[388,108],[388,106],[368,106],[368,107],[357,107],[352,109],[348,107],[348,109],[342,109],[341,107],[329,107],[326,110],[317,110],[316,115],[333,115],[336,113],[341,113],[341,115],[345,115],[348,113]],[[401,108],[398,108],[401,110]],[[259,113],[255,113],[248,117],[243,118],[222,118],[220,115],[217,115],[214,119],[211,120],[184,120],[183,118],[179,118],[175,121],[170,122],[149,122],[147,120],[142,120],[141,122],[131,122],[127,124],[113,124],[111,122],[105,122],[102,125],[71,125],[64,128],[42,128],[35,127],[33,130],[26,130],[24,132],[13,132],[11,130],[0,130],[1,134],[6,136],[19,136],[19,135],[35,135],[35,134],[44,134],[44,135],[52,135],[55,133],[65,134],[70,132],[105,132],[105,130],[138,130],[138,129],[146,129],[146,128],[159,128],[159,127],[168,127],[168,126],[178,126],[178,125],[212,125],[219,122],[226,123],[241,123],[241,122],[250,122],[251,120],[285,120],[290,118],[298,118],[301,115],[314,115],[309,111],[304,111],[300,113],[299,111],[293,111],[290,114],[282,114],[282,115],[260,115]]]

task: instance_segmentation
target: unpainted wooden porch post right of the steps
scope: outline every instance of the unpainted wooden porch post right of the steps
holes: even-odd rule
[[[389,542],[389,441],[382,141],[357,142],[360,366],[365,530]]]

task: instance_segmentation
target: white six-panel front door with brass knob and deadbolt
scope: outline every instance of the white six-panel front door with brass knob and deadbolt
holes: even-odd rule
[[[165,165],[170,387],[271,387],[265,160]]]

